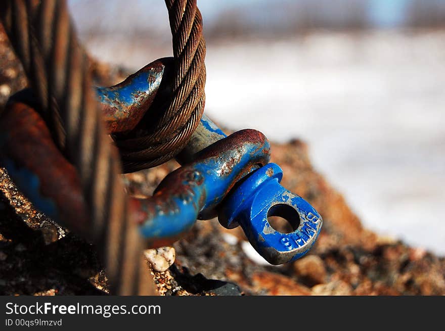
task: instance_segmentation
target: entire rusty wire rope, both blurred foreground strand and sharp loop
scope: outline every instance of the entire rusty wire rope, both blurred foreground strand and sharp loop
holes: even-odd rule
[[[148,123],[150,134],[116,141],[125,172],[161,164],[178,154],[204,110],[205,42],[196,0],[166,0],[166,5],[175,59],[173,97],[160,110],[159,120]],[[91,215],[91,225],[80,234],[98,244],[110,292],[147,293],[149,289],[138,281],[147,270],[141,263],[143,239],[136,224],[127,220],[127,198],[118,176],[121,164],[106,135],[88,58],[66,2],[7,0],[0,4],[0,15],[55,143],[78,172]]]

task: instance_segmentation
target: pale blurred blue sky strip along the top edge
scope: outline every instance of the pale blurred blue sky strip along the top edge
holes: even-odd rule
[[[167,19],[162,0],[68,0],[68,4],[76,12],[84,10],[80,24],[92,24],[93,27],[100,24],[106,30],[122,25],[120,22],[124,22],[126,27],[150,26],[156,29],[162,27]],[[321,18],[322,21],[341,22],[354,15],[357,7],[354,5],[363,4],[366,23],[372,27],[403,25],[413,4],[422,4],[432,13],[445,15],[445,0],[198,0],[204,27],[216,22],[221,13],[231,11],[251,25],[286,26],[292,20],[304,18],[304,15]]]

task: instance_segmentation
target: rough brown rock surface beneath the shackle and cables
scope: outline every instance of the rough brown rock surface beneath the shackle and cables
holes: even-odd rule
[[[116,83],[126,76],[120,69],[93,66],[100,84]],[[0,27],[0,106],[25,85],[21,66]],[[174,244],[175,262],[166,270],[152,268],[160,294],[445,294],[445,259],[379,238],[363,228],[341,194],[313,169],[302,141],[273,144],[272,161],[284,170],[283,184],[323,216],[324,227],[310,254],[280,267],[259,265],[244,253],[245,237],[239,228],[224,229],[216,220],[198,221]],[[125,175],[128,193],[151,195],[177,166],[170,161]],[[0,294],[107,293],[106,273],[94,245],[36,211],[4,170],[0,170],[0,191]]]

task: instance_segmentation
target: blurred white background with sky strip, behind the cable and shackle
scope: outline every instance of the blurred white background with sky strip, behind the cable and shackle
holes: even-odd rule
[[[69,5],[97,58],[137,70],[171,56],[162,0]],[[303,139],[367,228],[445,254],[445,0],[198,6],[208,115]]]

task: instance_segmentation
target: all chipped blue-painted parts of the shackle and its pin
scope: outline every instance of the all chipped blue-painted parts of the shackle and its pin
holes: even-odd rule
[[[143,108],[149,105],[141,103],[145,99],[140,99],[140,93],[154,97],[162,73],[163,65],[143,68],[120,84],[98,87],[97,98],[103,106],[118,110],[112,111],[112,116],[131,118],[127,114],[130,108],[136,112],[147,110]],[[147,215],[139,228],[143,237],[179,237],[196,219],[217,215],[228,228],[240,225],[255,250],[272,264],[293,261],[306,254],[314,245],[323,220],[306,201],[280,185],[283,174],[278,165],[270,163],[257,169],[269,162],[270,145],[261,133],[261,142],[247,139],[248,133],[241,130],[227,136],[204,115],[182,153],[184,158],[180,161],[184,165],[168,174],[154,196],[141,203]],[[39,178],[17,167],[12,160],[3,162],[35,207],[57,219],[55,203],[40,193]],[[241,179],[242,183],[233,189]],[[280,212],[284,206],[292,208],[294,215],[290,217],[298,220],[290,233],[275,230],[268,221],[271,211]]]

